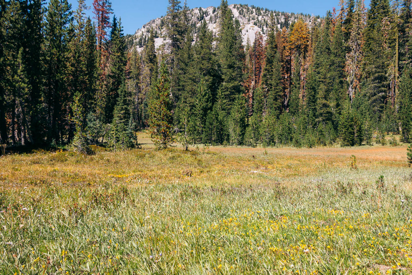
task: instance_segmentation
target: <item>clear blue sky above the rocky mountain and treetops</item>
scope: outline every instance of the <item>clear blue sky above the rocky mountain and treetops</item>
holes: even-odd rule
[[[68,0],[73,9],[77,7],[77,0]],[[181,0],[182,3],[184,0]],[[91,6],[93,0],[86,0]],[[282,12],[295,12],[314,15],[325,15],[328,9],[338,9],[339,0],[228,0],[229,4],[248,4]],[[369,5],[370,0],[365,0]],[[220,0],[187,0],[190,8],[219,6]],[[112,0],[113,12],[117,18],[122,18],[124,33],[134,34],[138,28],[151,19],[166,14],[168,0]],[[93,16],[91,11],[88,12]]]

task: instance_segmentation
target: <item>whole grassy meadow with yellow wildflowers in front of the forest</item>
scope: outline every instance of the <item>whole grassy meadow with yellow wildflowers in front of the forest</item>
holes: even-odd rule
[[[0,157],[0,274],[412,274],[405,146],[140,142]]]

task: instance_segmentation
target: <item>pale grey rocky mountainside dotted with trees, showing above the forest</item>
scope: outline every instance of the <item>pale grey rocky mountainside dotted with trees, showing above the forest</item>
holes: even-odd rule
[[[244,45],[248,42],[253,43],[256,33],[261,33],[263,39],[266,40],[270,23],[270,13],[272,11],[260,7],[239,4],[229,5],[229,8],[232,10],[234,19],[237,19],[240,23]],[[217,7],[199,7],[190,9],[189,15],[192,26],[194,27],[195,39],[199,26],[203,20],[206,20],[209,30],[216,36],[219,32],[218,12],[219,9]],[[282,29],[283,27],[288,29],[290,24],[293,24],[293,22],[296,22],[298,19],[307,22],[309,26],[319,20],[319,16],[311,16],[309,14],[294,14],[278,11],[273,11],[273,13],[279,29]],[[143,27],[138,29],[133,35],[134,44],[139,51],[143,49],[145,40],[149,36],[151,29],[153,29],[155,33],[156,48],[166,42],[166,17],[162,16],[144,24]]]

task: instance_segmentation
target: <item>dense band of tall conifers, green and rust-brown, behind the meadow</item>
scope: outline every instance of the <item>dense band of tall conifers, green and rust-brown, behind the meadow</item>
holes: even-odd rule
[[[108,0],[93,18],[84,0],[0,7],[0,143],[123,150],[147,127],[160,148],[412,139],[411,0],[341,0],[281,29],[271,14],[267,40],[246,43],[226,0],[218,33],[169,0],[166,42],[151,31],[140,52]]]

